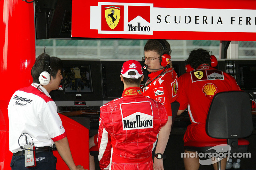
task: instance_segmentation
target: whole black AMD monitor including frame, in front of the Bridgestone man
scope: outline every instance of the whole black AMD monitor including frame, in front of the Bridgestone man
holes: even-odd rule
[[[62,60],[62,63],[60,88],[50,93],[54,101],[102,100],[100,60]]]

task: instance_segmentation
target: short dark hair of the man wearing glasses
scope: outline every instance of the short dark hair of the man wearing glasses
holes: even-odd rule
[[[163,49],[163,46],[158,40],[148,40],[147,43],[144,46],[144,51],[155,51],[159,55],[163,54],[169,54],[170,55],[170,44],[166,40],[160,40],[165,44],[165,47],[167,50]]]

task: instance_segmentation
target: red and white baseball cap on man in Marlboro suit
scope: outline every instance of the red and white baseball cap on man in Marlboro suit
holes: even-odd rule
[[[129,71],[135,71],[136,75],[128,75]],[[121,74],[125,78],[140,78],[143,75],[143,70],[140,62],[129,60],[124,62]]]

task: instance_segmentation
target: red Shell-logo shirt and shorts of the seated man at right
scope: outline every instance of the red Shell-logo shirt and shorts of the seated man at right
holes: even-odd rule
[[[231,75],[208,65],[201,65],[198,69],[179,77],[179,110],[188,108],[191,122],[184,135],[184,142],[221,140],[209,137],[205,132],[208,108],[215,94],[233,90],[240,90],[236,80]]]

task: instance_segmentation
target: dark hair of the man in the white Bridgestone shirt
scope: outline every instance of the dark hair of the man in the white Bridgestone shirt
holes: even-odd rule
[[[50,61],[50,67],[52,69],[52,74],[51,74],[51,69],[48,66],[48,63],[47,64],[45,63],[45,61],[47,61],[47,60]],[[63,69],[63,64],[58,57],[54,57],[54,56],[51,57],[47,53],[43,53],[36,58],[35,64],[33,65],[32,69],[31,69],[31,75],[33,78],[33,82],[40,84],[39,75],[43,71],[47,71],[55,79],[58,71],[59,70],[62,71],[62,69]]]

